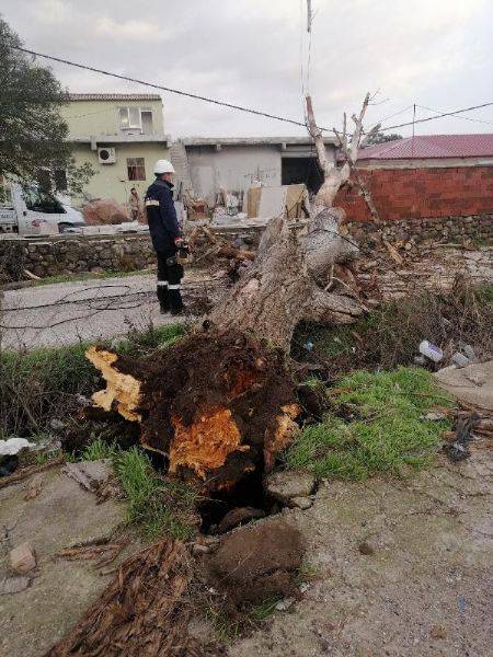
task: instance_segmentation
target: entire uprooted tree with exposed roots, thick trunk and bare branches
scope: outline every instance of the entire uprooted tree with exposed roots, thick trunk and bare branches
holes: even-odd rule
[[[162,453],[171,473],[228,491],[249,473],[268,471],[300,414],[286,355],[301,321],[353,322],[364,312],[341,267],[358,255],[341,231],[333,203],[349,178],[362,140],[366,96],[348,139],[336,132],[345,161],[326,155],[307,97],[308,127],[323,172],[308,226],[299,232],[272,219],[256,257],[240,280],[185,339],[135,360],[91,347],[88,357],[106,380],[94,402],[140,424],[141,442]],[[334,274],[337,274],[335,275]],[[205,327],[204,327],[205,326]]]

